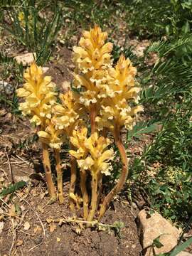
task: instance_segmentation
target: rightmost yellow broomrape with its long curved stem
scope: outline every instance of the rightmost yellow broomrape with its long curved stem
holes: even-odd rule
[[[137,70],[132,66],[131,61],[126,60],[124,55],[121,55],[115,68],[109,70],[113,80],[110,83],[112,93],[102,100],[100,116],[95,119],[98,129],[107,127],[112,132],[122,159],[122,175],[117,185],[105,197],[100,208],[100,218],[104,215],[112,198],[122,189],[128,175],[128,159],[122,143],[121,130],[122,127],[132,129],[135,115],[143,110],[142,106],[132,106],[139,100],[139,87],[135,86],[134,81],[136,73]]]

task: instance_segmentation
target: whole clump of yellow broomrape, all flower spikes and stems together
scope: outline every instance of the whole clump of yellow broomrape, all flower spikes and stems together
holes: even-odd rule
[[[58,177],[58,199],[63,203],[63,171],[60,150],[70,142],[70,209],[83,204],[83,219],[91,222],[105,214],[112,198],[119,193],[128,175],[128,159],[122,141],[122,129],[134,126],[138,105],[139,86],[135,81],[137,69],[129,58],[121,55],[117,64],[112,61],[112,43],[107,43],[107,33],[99,26],[84,31],[79,45],[73,48],[73,89],[56,92],[56,85],[35,63],[23,75],[25,83],[17,90],[23,98],[19,109],[38,127],[38,137],[43,147],[43,166],[50,198],[55,200],[48,147],[53,149]],[[60,102],[60,103],[59,103]],[[90,123],[90,132],[89,132]],[[102,176],[112,173],[114,151],[108,134],[114,137],[122,160],[122,172],[112,191],[100,202]],[[102,136],[101,136],[102,135]],[[111,136],[111,137],[112,137]],[[78,168],[77,168],[77,166]],[[82,198],[75,191],[80,171]],[[91,177],[91,193],[87,183]],[[77,190],[78,191],[78,190]],[[89,225],[87,225],[89,226]]]

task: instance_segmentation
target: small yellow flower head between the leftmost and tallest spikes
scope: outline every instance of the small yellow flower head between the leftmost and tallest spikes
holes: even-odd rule
[[[56,129],[64,129],[68,135],[71,135],[76,122],[79,121],[79,114],[82,107],[80,106],[78,95],[68,90],[64,94],[60,94],[61,104],[53,107],[54,117],[53,123]]]

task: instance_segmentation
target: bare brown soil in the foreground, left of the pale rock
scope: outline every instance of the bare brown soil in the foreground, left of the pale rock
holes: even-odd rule
[[[115,203],[115,210],[108,210],[102,223],[113,224],[114,221],[122,221],[124,228],[120,232],[120,237],[114,234],[112,230],[97,230],[87,228],[82,230],[77,224],[48,223],[49,218],[63,218],[70,214],[68,210],[68,200],[65,204],[59,206],[58,203],[46,205],[47,198],[42,198],[41,186],[31,188],[29,191],[26,188],[23,191],[23,197],[26,196],[26,201],[30,204],[33,210],[28,206],[26,201],[19,198],[14,198],[14,202],[20,206],[22,214],[20,219],[8,218],[4,225],[4,230],[1,233],[0,239],[0,255],[9,255],[11,245],[14,245],[11,250],[11,255],[139,255],[141,245],[137,235],[137,227],[134,223],[134,218],[130,213],[129,207],[120,203]],[[43,227],[38,220],[41,219]],[[25,230],[24,223],[28,222],[30,228]],[[12,224],[18,225],[18,228],[12,227]],[[19,224],[18,224],[19,223]],[[43,235],[43,228],[46,236]]]

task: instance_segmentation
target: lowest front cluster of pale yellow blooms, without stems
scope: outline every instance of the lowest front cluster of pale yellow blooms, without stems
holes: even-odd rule
[[[83,127],[73,131],[70,142],[78,149],[70,150],[70,154],[78,159],[80,169],[89,170],[93,175],[110,175],[112,166],[109,161],[114,156],[112,149],[106,149],[110,145],[110,139],[99,137],[97,132],[87,138],[87,128]]]

